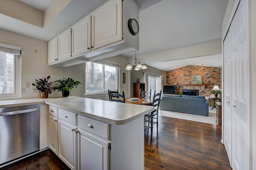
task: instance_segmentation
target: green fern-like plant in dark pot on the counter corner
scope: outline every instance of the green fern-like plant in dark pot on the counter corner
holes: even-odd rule
[[[77,88],[78,85],[81,85],[79,81],[75,81],[72,78],[64,78],[60,80],[56,80],[56,83],[53,87],[53,90],[58,90],[58,92],[62,92],[63,97],[69,96],[69,91],[73,88]]]

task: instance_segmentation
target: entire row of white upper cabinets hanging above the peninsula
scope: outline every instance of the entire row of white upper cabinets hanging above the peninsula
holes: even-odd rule
[[[138,50],[139,34],[129,32],[129,19],[139,20],[138,7],[132,0],[106,2],[74,24],[72,31],[58,35],[57,45],[49,41],[48,64],[65,67]]]

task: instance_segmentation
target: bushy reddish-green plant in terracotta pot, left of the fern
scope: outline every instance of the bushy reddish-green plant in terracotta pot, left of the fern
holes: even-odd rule
[[[48,82],[50,76],[47,76],[47,78],[38,80],[35,80],[35,83],[32,83],[33,86],[36,86],[35,90],[38,90],[40,92],[41,98],[48,98],[48,94],[52,93],[52,82]]]

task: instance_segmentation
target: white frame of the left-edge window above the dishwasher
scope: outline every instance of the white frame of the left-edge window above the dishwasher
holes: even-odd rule
[[[0,43],[0,51],[14,55],[14,93],[0,94],[0,100],[21,98],[21,47]],[[20,55],[18,55],[20,53]]]

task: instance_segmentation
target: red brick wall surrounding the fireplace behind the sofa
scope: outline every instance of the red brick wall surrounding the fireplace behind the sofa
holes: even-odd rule
[[[201,75],[202,84],[191,84],[192,75]],[[182,93],[182,89],[198,90],[200,96],[210,96],[214,85],[219,88],[221,82],[221,68],[209,66],[185,66],[166,72],[166,85],[176,86],[176,93]]]

